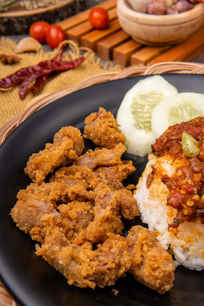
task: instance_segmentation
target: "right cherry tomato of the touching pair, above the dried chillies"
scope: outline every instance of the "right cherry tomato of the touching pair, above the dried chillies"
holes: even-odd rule
[[[46,43],[52,48],[56,48],[61,42],[66,40],[65,31],[57,24],[50,25],[45,33]]]

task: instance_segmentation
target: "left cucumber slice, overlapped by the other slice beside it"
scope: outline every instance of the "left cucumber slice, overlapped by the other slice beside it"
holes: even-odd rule
[[[146,156],[156,136],[152,131],[152,110],[166,96],[178,93],[162,76],[153,75],[136,83],[124,96],[117,112],[120,130],[126,136],[127,153]]]

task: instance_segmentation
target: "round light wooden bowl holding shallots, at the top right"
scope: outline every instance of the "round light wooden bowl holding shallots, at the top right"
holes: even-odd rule
[[[122,29],[141,44],[177,44],[204,24],[204,3],[180,14],[151,15],[136,12],[126,0],[118,0],[117,17]]]

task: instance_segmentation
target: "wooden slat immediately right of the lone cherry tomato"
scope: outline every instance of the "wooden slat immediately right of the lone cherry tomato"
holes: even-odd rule
[[[120,24],[118,20],[113,20],[109,23],[109,26],[107,28],[102,30],[93,30],[88,34],[83,35],[80,39],[80,44],[96,52],[97,43],[119,30],[119,28]]]

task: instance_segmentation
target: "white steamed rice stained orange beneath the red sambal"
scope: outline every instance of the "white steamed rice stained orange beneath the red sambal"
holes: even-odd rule
[[[200,219],[195,222],[183,222],[177,230],[168,230],[177,210],[167,206],[168,188],[161,182],[161,175],[171,176],[178,167],[179,161],[172,161],[169,155],[156,157],[150,153],[147,166],[140,177],[136,198],[141,219],[148,224],[151,231],[156,231],[157,239],[164,249],[170,248],[175,257],[176,265],[183,265],[192,270],[204,269],[204,224]],[[152,172],[151,165],[157,163],[157,171],[150,188],[146,187],[148,175]]]

